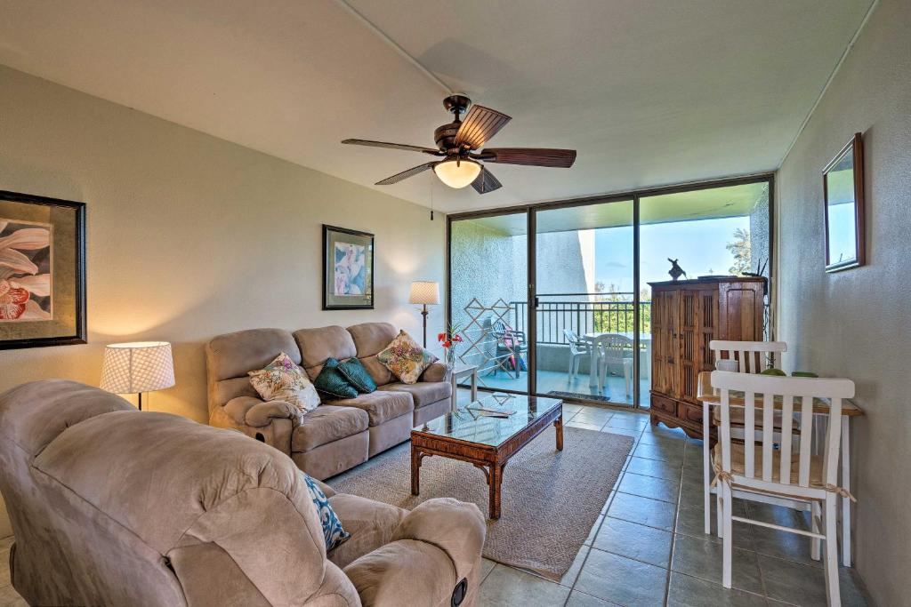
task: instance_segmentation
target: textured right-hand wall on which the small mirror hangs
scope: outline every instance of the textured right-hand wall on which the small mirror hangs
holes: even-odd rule
[[[789,367],[855,380],[855,565],[875,602],[911,572],[911,3],[882,0],[778,174]],[[822,167],[864,133],[867,265],[823,271]]]

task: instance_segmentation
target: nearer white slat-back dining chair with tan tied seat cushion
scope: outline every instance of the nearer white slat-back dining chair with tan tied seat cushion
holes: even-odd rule
[[[830,605],[840,605],[838,588],[837,510],[839,495],[854,497],[838,487],[838,458],[841,442],[842,400],[855,395],[850,379],[788,378],[712,371],[711,385],[721,391],[722,424],[718,444],[712,450],[712,469],[720,486],[718,510],[722,535],[722,585],[731,588],[733,521],[759,525],[777,531],[788,531],[811,539],[811,551],[819,558],[820,541],[824,541],[825,586]],[[732,440],[732,392],[743,394],[743,444]],[[755,413],[757,397],[762,397],[762,414]],[[824,436],[818,437],[823,454],[814,456],[814,402],[822,407],[815,415],[828,418]],[[773,412],[780,402],[781,438],[776,442]],[[798,415],[793,427],[794,414]],[[759,420],[754,427],[754,420]],[[792,432],[799,435],[799,446]],[[815,430],[819,431],[819,430]],[[757,434],[758,433],[758,434]],[[760,437],[756,444],[757,435]],[[734,516],[733,498],[787,505],[811,511],[811,531],[795,529],[766,521]]]

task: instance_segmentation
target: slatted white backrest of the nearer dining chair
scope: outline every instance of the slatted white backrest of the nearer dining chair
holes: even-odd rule
[[[752,373],[731,373],[713,371],[711,385],[721,391],[722,425],[720,444],[722,449],[722,470],[732,472],[731,440],[731,392],[743,394],[743,472],[747,479],[759,481],[756,470],[756,440],[761,441],[758,451],[762,454],[761,480],[781,485],[793,484],[792,470],[797,470],[796,482],[801,487],[809,487],[815,479],[811,474],[814,428],[814,399],[827,400],[828,412],[816,413],[817,416],[829,418],[828,423],[820,424],[827,428],[824,436],[817,437],[817,442],[824,440],[823,474],[824,484],[837,484],[838,454],[841,440],[842,400],[854,396],[854,382],[849,379],[788,378],[777,376],[754,375]],[[758,420],[761,428],[756,429],[756,401],[762,394],[763,413]],[[792,438],[794,408],[796,395],[800,396],[800,439],[795,445]],[[775,430],[776,401],[781,405],[781,429]],[[776,444],[776,440],[780,444]],[[794,447],[796,447],[796,451]],[[780,456],[777,470],[775,455]],[[739,474],[739,472],[738,472]],[[736,474],[734,475],[736,477]],[[776,478],[777,477],[777,478]],[[814,485],[815,486],[815,485]]]

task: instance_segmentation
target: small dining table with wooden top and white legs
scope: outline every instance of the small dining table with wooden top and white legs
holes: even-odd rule
[[[735,393],[728,397],[732,407],[743,407],[744,398]],[[711,371],[701,371],[696,390],[696,400],[702,403],[702,436],[709,437],[711,425],[711,408],[719,407],[722,402],[721,392],[711,385]],[[753,407],[763,410],[763,395],[756,394],[753,400]],[[782,403],[774,401],[775,410],[782,410]],[[813,402],[814,416],[828,415],[829,404],[825,399],[814,399]],[[841,419],[841,465],[839,466],[839,484],[845,491],[851,491],[851,420],[864,415],[864,410],[857,406],[854,400],[842,400],[842,419]],[[711,440],[702,440],[702,476],[704,486],[708,489],[711,482]],[[851,566],[851,500],[842,496],[841,498],[841,531],[842,531],[842,564],[845,567]],[[703,507],[705,509],[705,532],[711,534],[711,493],[705,491],[705,500]]]

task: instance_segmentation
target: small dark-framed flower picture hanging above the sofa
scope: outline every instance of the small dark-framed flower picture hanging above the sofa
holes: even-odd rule
[[[322,309],[374,309],[374,235],[322,226]]]

